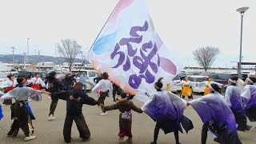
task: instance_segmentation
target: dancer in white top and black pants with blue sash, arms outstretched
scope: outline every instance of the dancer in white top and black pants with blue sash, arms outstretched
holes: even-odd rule
[[[11,118],[14,119],[11,129],[8,132],[7,136],[16,137],[18,134],[19,128],[22,128],[25,134],[25,141],[34,139],[36,136],[32,136],[34,133],[34,127],[32,125],[31,118],[34,116],[30,106],[28,105],[28,98],[33,95],[32,99],[38,101],[41,100],[41,94],[49,94],[46,91],[34,90],[30,87],[27,87],[27,82],[25,78],[17,78],[18,87],[14,90],[11,90],[7,94],[3,95],[0,99],[10,99],[15,98],[14,102],[10,106]]]

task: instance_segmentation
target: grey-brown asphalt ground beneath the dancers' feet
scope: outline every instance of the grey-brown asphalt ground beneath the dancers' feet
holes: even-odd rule
[[[88,93],[92,98],[98,99],[96,94]],[[194,98],[198,98],[201,95],[194,94]],[[31,140],[26,143],[65,143],[62,135],[63,124],[66,117],[66,102],[59,100],[57,109],[54,116],[57,118],[54,121],[48,121],[48,113],[50,109],[50,98],[46,95],[43,95],[42,102],[30,102],[30,107],[34,111],[36,120],[33,121],[34,125],[34,135],[37,136],[34,140]],[[187,100],[187,98],[186,98]],[[136,106],[142,106],[143,102],[138,101],[136,98],[132,100]],[[114,104],[113,98],[106,98],[106,105]],[[19,134],[16,138],[6,137],[8,130],[10,130],[10,106],[2,106],[4,118],[0,121],[0,143],[23,143],[24,134],[22,130],[19,130]],[[86,123],[90,128],[91,138],[89,141],[84,143],[88,144],[114,144],[114,143],[126,143],[126,141],[118,142],[118,110],[109,111],[106,116],[99,115],[102,111],[98,106],[86,106],[82,108],[83,114],[86,118]],[[133,122],[132,122],[132,134],[133,134],[133,143],[138,144],[149,144],[153,140],[154,126],[155,122],[146,114],[138,114],[132,112]],[[185,110],[186,117],[190,118],[194,123],[194,129],[190,130],[189,134],[179,133],[181,143],[190,143],[198,144],[201,143],[201,128],[202,121],[199,118],[198,114],[190,106]],[[245,144],[254,144],[256,142],[256,122],[248,122],[253,128],[250,131],[240,132],[238,131],[239,138],[242,143]],[[73,123],[72,127],[72,140],[71,143],[82,143],[82,140],[79,138],[78,130]],[[167,144],[174,143],[174,134],[164,134],[161,130],[158,137],[158,143]],[[216,143],[208,134],[207,143]]]

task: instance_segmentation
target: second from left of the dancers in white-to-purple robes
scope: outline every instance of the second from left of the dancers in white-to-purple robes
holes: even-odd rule
[[[208,87],[210,94],[187,102],[186,106],[192,106],[198,113],[202,122],[202,144],[206,144],[207,132],[218,143],[241,144],[238,137],[236,122],[230,106],[222,98],[221,88],[214,83]]]

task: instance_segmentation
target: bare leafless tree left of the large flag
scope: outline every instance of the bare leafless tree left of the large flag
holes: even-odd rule
[[[70,71],[76,56],[81,51],[81,47],[78,42],[70,39],[62,39],[57,45],[58,52],[66,59]]]

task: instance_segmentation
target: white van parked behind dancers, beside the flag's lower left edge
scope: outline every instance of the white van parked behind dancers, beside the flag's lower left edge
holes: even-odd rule
[[[87,76],[89,79],[87,79],[87,83],[89,85],[86,85],[86,90],[91,90],[93,86],[95,86],[94,78],[98,77],[98,72],[96,70],[71,70],[72,74],[75,74],[78,72],[78,76],[76,78],[77,82],[79,82],[80,75],[82,74],[83,71],[87,72]]]

